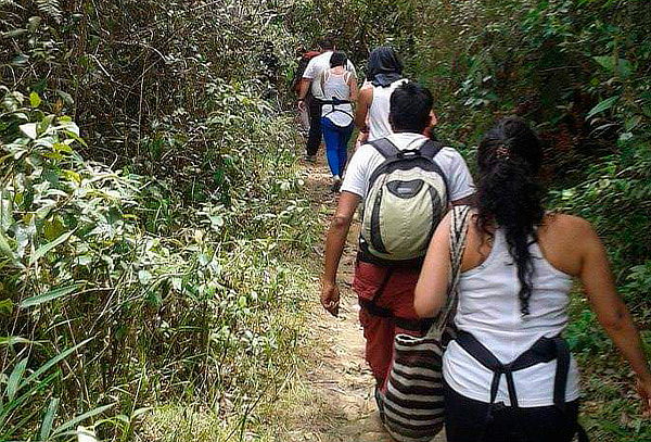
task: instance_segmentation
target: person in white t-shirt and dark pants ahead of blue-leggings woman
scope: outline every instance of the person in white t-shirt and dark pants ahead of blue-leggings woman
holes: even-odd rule
[[[309,134],[306,146],[306,160],[314,162],[317,157],[317,151],[321,143],[321,108],[323,100],[323,90],[321,88],[321,75],[330,68],[330,58],[335,50],[332,41],[323,40],[319,45],[321,54],[309,61],[303,77],[301,79],[301,88],[298,92],[298,110],[309,109]],[[346,62],[346,71],[355,75],[355,66],[348,60]],[[312,94],[312,99],[306,102],[308,91]]]

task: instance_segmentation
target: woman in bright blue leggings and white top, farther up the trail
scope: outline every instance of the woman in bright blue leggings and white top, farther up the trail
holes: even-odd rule
[[[321,75],[323,106],[321,127],[326,140],[326,154],[332,172],[332,190],[339,191],[347,161],[347,147],[353,136],[353,103],[357,100],[357,78],[347,71],[348,59],[343,52],[330,58],[330,68]]]

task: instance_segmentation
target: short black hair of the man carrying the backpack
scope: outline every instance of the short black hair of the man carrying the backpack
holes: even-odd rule
[[[388,121],[395,132],[422,134],[430,124],[434,98],[418,83],[400,85],[391,94]]]

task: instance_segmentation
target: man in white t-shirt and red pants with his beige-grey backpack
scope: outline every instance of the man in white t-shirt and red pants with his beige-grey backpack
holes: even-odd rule
[[[350,159],[326,242],[321,304],[339,312],[336,271],[348,228],[363,201],[363,220],[353,288],[358,295],[366,359],[378,386],[388,371],[397,332],[421,333],[413,289],[427,243],[449,203],[474,193],[461,155],[422,134],[432,122],[431,92],[414,83],[391,97],[393,131],[363,144]]]

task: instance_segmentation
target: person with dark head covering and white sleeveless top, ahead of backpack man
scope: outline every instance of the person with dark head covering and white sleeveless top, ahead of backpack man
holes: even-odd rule
[[[373,141],[392,132],[388,122],[390,98],[393,91],[407,81],[403,77],[403,63],[393,48],[373,49],[367,65],[368,87],[359,92],[355,125],[360,141]]]

